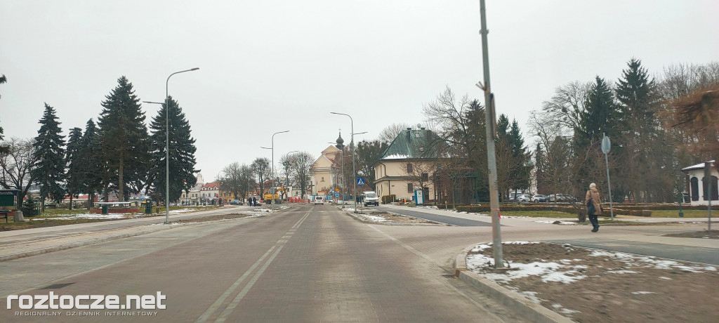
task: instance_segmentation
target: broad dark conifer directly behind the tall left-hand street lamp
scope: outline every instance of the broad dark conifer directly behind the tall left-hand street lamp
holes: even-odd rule
[[[169,98],[170,109],[162,109],[157,117],[152,119],[150,129],[152,129],[152,168],[150,170],[150,178],[152,182],[152,191],[160,194],[163,198],[165,194],[165,169],[166,169],[166,151],[165,138],[168,133],[165,129],[166,122],[170,124],[170,201],[177,201],[182,195],[182,191],[187,191],[197,183],[195,173],[199,170],[195,169],[196,159],[195,139],[191,137],[190,124],[187,121],[182,108],[177,101]]]

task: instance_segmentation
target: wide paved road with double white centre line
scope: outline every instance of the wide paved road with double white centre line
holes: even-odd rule
[[[109,310],[70,317],[63,310],[48,318],[19,316],[16,304],[0,311],[0,322],[521,321],[382,229],[333,206],[303,205],[9,260],[0,272],[14,279],[3,279],[0,301],[52,291],[119,295],[125,304],[124,295],[159,291],[166,309],[152,317],[107,316]],[[444,238],[416,246],[443,245]]]

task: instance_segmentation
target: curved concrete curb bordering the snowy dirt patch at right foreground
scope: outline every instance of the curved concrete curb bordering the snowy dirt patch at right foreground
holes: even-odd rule
[[[499,286],[497,283],[490,281],[476,273],[467,269],[467,253],[472,250],[474,246],[467,247],[462,250],[462,253],[457,255],[457,259],[454,261],[454,275],[462,281],[469,283],[482,293],[489,295],[500,304],[508,306],[513,309],[522,317],[525,317],[530,322],[573,322],[571,319],[567,319],[562,315],[547,309],[544,306],[530,301],[515,291],[510,291],[508,288]]]

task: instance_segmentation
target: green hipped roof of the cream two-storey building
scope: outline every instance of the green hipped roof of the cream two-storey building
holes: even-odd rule
[[[392,141],[380,160],[388,159],[436,159],[439,137],[428,129],[404,129]]]

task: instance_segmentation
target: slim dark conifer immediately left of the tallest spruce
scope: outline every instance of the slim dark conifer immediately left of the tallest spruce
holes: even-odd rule
[[[79,160],[82,160],[79,181],[82,184],[81,190],[88,194],[88,209],[90,209],[95,201],[96,192],[103,188],[101,175],[106,172],[103,168],[104,164],[101,163],[102,145],[92,119],[89,119],[85,126],[78,155]]]

